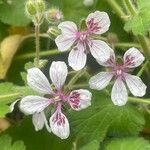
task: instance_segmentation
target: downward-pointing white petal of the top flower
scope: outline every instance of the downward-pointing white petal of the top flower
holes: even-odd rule
[[[86,64],[86,53],[83,44],[78,43],[69,53],[68,62],[74,70],[81,70]]]

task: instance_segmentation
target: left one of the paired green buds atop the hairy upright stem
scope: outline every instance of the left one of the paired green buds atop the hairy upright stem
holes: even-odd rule
[[[35,2],[33,0],[28,0],[26,2],[25,9],[26,9],[27,15],[29,16],[34,16],[37,13]]]

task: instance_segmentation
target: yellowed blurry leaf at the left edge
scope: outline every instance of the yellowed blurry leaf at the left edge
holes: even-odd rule
[[[12,59],[22,42],[21,35],[5,38],[0,44],[0,79],[4,79],[11,65]]]

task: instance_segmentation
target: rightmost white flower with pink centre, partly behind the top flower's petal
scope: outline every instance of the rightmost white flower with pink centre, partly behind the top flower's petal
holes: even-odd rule
[[[143,54],[141,54],[138,49],[130,48],[124,54],[123,63],[121,64],[116,61],[114,51],[112,51],[110,59],[105,63],[99,62],[100,65],[108,67],[110,71],[100,72],[91,77],[89,81],[90,88],[102,90],[114,77],[116,81],[111,91],[111,99],[115,105],[125,105],[128,100],[125,83],[134,96],[144,96],[147,88],[146,85],[138,76],[128,73],[131,69],[141,65],[144,59]]]

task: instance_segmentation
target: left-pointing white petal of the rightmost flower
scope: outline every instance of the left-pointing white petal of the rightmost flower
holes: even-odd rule
[[[102,90],[111,81],[113,74],[110,72],[100,72],[97,75],[91,77],[89,85],[91,89]]]

